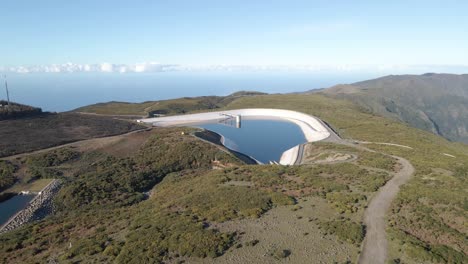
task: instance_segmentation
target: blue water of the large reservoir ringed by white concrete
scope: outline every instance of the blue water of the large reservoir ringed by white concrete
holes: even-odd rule
[[[241,128],[222,123],[197,125],[221,134],[224,145],[263,163],[279,161],[284,151],[306,142],[302,130],[285,120],[243,119]]]

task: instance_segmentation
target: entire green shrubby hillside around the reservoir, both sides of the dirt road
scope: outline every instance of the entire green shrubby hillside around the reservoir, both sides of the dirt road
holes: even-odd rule
[[[64,187],[55,199],[55,215],[0,235],[0,260],[232,263],[259,256],[269,263],[294,262],[306,256],[305,245],[321,261],[355,262],[366,204],[398,170],[383,153],[404,157],[416,168],[387,219],[388,261],[468,261],[467,145],[317,94],[243,96],[224,108],[247,107],[318,116],[344,138],[366,141],[377,153],[316,143],[309,160],[323,153],[357,158],[246,166],[187,134],[193,129],[156,128],[10,160],[26,172],[15,174],[18,181],[60,178]],[[269,226],[282,231],[265,231]]]

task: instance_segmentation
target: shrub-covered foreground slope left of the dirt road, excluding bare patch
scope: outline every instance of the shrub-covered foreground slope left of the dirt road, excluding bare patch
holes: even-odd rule
[[[240,166],[236,158],[181,131],[187,129],[144,132],[145,142],[120,158],[112,152],[128,140],[93,151],[66,147],[14,160],[24,177],[61,178],[65,186],[56,199],[57,215],[0,237],[0,260],[142,263],[216,257],[233,248],[241,234],[207,226],[262,217],[279,205],[298,210],[294,200],[311,195],[335,212],[308,222],[324,232],[315,235],[337,236],[341,242],[328,243],[351,248],[355,257],[366,196],[384,183],[373,176],[384,175],[357,164]],[[136,136],[141,135],[126,137]],[[358,162],[388,164],[372,160],[363,155]],[[231,181],[250,184],[227,184]],[[144,200],[142,192],[154,184],[152,197]]]

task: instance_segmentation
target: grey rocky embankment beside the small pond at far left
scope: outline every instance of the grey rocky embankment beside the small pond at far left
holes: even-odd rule
[[[54,210],[53,197],[60,189],[60,181],[53,180],[42,191],[34,197],[31,202],[14,215],[0,228],[0,234],[16,229],[25,223],[40,220],[52,213]]]

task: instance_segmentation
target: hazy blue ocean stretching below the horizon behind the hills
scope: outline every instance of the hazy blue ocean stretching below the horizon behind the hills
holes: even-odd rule
[[[109,101],[144,102],[248,90],[291,93],[352,83],[375,74],[310,72],[159,72],[8,74],[10,99],[63,112]],[[2,85],[3,86],[3,85]],[[0,90],[4,99],[4,89]]]

